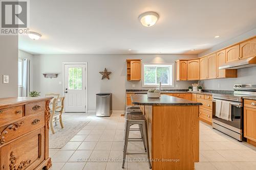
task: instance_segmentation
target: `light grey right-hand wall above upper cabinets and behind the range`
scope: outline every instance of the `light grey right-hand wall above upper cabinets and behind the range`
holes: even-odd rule
[[[229,41],[218,44],[210,48],[208,51],[199,54],[198,56],[201,57],[206,54],[218,51],[221,48],[232,45],[234,43],[238,43],[245,39],[251,38],[255,35],[256,35],[256,29],[253,29],[245,34],[232,38]],[[238,69],[238,78],[212,79],[212,80],[201,81],[201,84],[204,89],[211,89],[211,90],[233,90],[233,85],[236,83],[256,84],[256,67]],[[220,84],[220,88],[218,88],[218,84]]]

